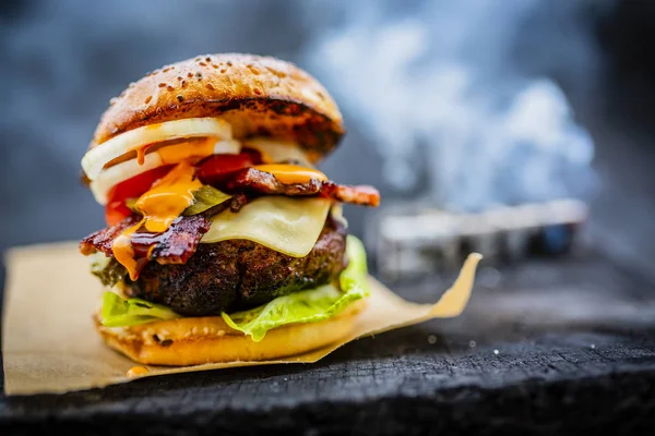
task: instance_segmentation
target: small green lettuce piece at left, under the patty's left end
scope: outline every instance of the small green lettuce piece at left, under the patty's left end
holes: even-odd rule
[[[103,319],[107,327],[126,327],[145,324],[153,320],[179,318],[180,315],[160,304],[141,299],[123,300],[114,292],[105,292],[103,296]]]

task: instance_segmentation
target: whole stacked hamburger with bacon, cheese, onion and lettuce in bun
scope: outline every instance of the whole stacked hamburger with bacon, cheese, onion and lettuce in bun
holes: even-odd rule
[[[345,134],[309,73],[204,55],[131,83],[102,116],[82,181],[107,227],[80,243],[102,281],[105,342],[155,365],[259,361],[347,336],[367,261],[342,205],[371,186],[317,166]]]

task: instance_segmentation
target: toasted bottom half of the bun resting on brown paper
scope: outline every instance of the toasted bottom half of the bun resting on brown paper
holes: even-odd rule
[[[112,349],[146,365],[187,366],[236,361],[270,361],[329,346],[348,336],[365,300],[319,323],[290,324],[269,330],[264,339],[230,328],[219,316],[163,320],[131,327],[105,327],[95,316],[96,329]]]

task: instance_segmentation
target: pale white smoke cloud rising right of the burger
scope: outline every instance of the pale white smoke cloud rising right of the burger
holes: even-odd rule
[[[547,3],[557,23],[529,28]],[[585,197],[596,183],[593,140],[556,82],[528,73],[568,65],[573,86],[590,85],[597,59],[571,3],[584,5],[353,1],[335,12],[306,2],[307,21],[323,28],[306,64],[371,138],[400,194],[424,191],[465,210]],[[515,59],[523,40],[547,48]]]

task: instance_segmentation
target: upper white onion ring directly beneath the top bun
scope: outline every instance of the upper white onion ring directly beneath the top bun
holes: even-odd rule
[[[88,179],[95,180],[105,164],[141,146],[202,136],[231,140],[231,125],[218,118],[189,118],[136,128],[88,150],[82,158],[82,169]]]

